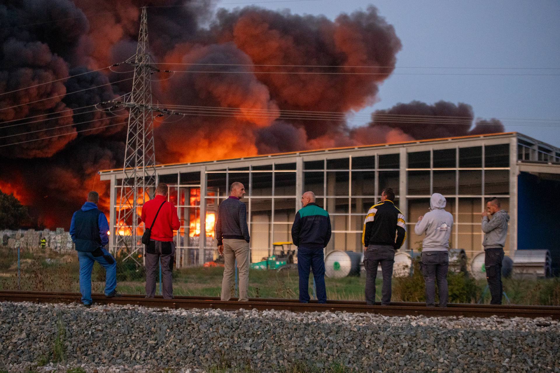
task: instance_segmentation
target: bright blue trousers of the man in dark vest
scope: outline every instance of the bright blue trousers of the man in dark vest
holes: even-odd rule
[[[95,256],[94,253],[88,251],[78,251],[78,260],[80,260],[80,292],[82,293],[82,303],[91,304],[91,271],[94,268],[94,262],[97,262],[105,268],[105,295],[110,295],[115,291],[116,287],[116,262],[113,255],[105,249],[101,249],[102,254]]]

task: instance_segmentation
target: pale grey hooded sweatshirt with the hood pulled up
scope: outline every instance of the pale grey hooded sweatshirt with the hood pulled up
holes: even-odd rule
[[[445,211],[447,201],[440,193],[433,193],[430,198],[430,212],[414,226],[414,232],[419,236],[426,234],[422,241],[422,251],[447,251],[449,237],[453,227],[453,216]]]

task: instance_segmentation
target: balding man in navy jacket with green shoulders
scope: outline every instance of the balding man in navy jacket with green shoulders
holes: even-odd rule
[[[329,213],[317,206],[315,194],[301,196],[304,208],[296,213],[292,242],[297,246],[297,271],[300,275],[300,302],[309,302],[309,270],[313,270],[317,300],[326,303],[325,258],[323,249],[330,241]]]

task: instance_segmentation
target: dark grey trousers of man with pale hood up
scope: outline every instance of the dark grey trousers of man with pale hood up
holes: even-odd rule
[[[440,307],[447,307],[449,291],[447,290],[447,269],[449,269],[449,253],[447,251],[423,251],[422,274],[426,283],[426,305],[436,305],[437,289],[440,293]]]

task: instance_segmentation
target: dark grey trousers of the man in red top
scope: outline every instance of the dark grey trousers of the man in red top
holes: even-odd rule
[[[169,253],[169,251],[171,252]],[[163,296],[164,299],[173,299],[172,274],[174,258],[175,243],[150,240],[150,245],[146,248],[146,298],[153,298],[156,295],[156,277],[159,277],[161,259]]]

